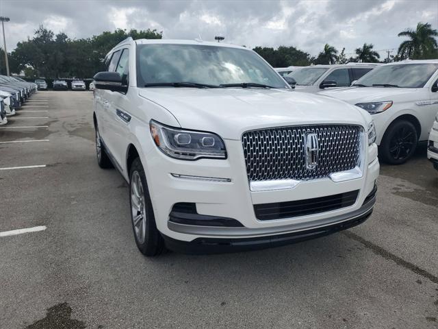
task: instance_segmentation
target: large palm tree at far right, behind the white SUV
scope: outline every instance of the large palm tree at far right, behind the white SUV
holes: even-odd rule
[[[403,41],[398,47],[400,58],[424,59],[438,49],[436,36],[438,32],[429,23],[418,23],[417,29],[407,29],[398,36],[407,36],[411,40]]]

